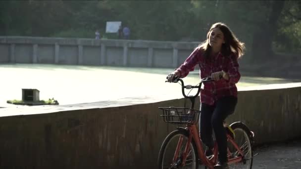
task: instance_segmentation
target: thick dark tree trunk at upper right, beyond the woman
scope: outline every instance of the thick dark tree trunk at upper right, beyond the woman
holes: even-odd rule
[[[273,57],[272,42],[277,33],[277,21],[284,7],[284,0],[272,1],[272,9],[267,23],[261,24],[260,31],[253,35],[252,58],[259,63]]]

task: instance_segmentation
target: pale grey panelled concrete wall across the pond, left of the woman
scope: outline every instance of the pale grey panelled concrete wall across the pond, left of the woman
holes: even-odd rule
[[[0,63],[176,67],[199,42],[1,37]]]

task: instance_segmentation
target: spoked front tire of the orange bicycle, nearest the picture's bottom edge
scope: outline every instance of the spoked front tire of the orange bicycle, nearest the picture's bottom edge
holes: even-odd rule
[[[185,148],[186,146],[186,141],[188,140],[189,137],[189,132],[184,129],[180,128],[175,131],[172,131],[170,134],[166,136],[164,139],[160,151],[159,151],[159,156],[158,156],[158,169],[170,169],[170,166],[172,165],[172,159],[175,153],[175,149],[177,147],[177,143],[179,140],[179,137],[177,136],[183,136],[183,144],[182,146]],[[169,149],[171,148],[171,150]],[[182,147],[181,147],[182,150]],[[181,152],[180,150],[180,152]],[[190,153],[187,156],[187,161],[186,165],[188,166],[179,166],[174,168],[174,169],[198,169],[199,167],[199,158],[198,158],[198,150],[196,147],[195,142],[192,140],[190,143]],[[167,158],[168,160],[165,160],[166,156],[169,156],[170,158]],[[180,160],[181,153],[179,153],[179,156],[176,161]],[[188,163],[187,163],[188,162]],[[181,164],[181,163],[180,163]]]

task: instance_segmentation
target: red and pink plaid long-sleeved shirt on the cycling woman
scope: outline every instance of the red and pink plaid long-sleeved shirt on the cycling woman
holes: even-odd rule
[[[200,78],[211,76],[214,72],[225,71],[229,74],[229,80],[221,79],[219,81],[203,83],[201,89],[201,103],[214,105],[215,101],[223,96],[237,97],[237,87],[241,75],[239,73],[239,64],[237,56],[232,53],[230,56],[223,56],[220,52],[208,59],[202,57],[202,52],[195,49],[176,71],[180,72],[180,78],[186,77],[190,71],[194,71],[195,66],[199,64]]]

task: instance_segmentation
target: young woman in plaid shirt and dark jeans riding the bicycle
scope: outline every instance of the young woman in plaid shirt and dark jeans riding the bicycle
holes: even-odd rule
[[[228,169],[227,138],[223,121],[232,114],[237,104],[237,87],[240,80],[238,59],[244,53],[240,42],[228,26],[215,23],[201,43],[185,62],[168,75],[168,82],[175,76],[184,78],[198,64],[200,77],[211,76],[212,82],[204,83],[201,90],[200,134],[206,144],[206,155],[212,154],[212,128],[218,145],[218,163],[215,169]],[[222,78],[221,78],[222,77]]]

